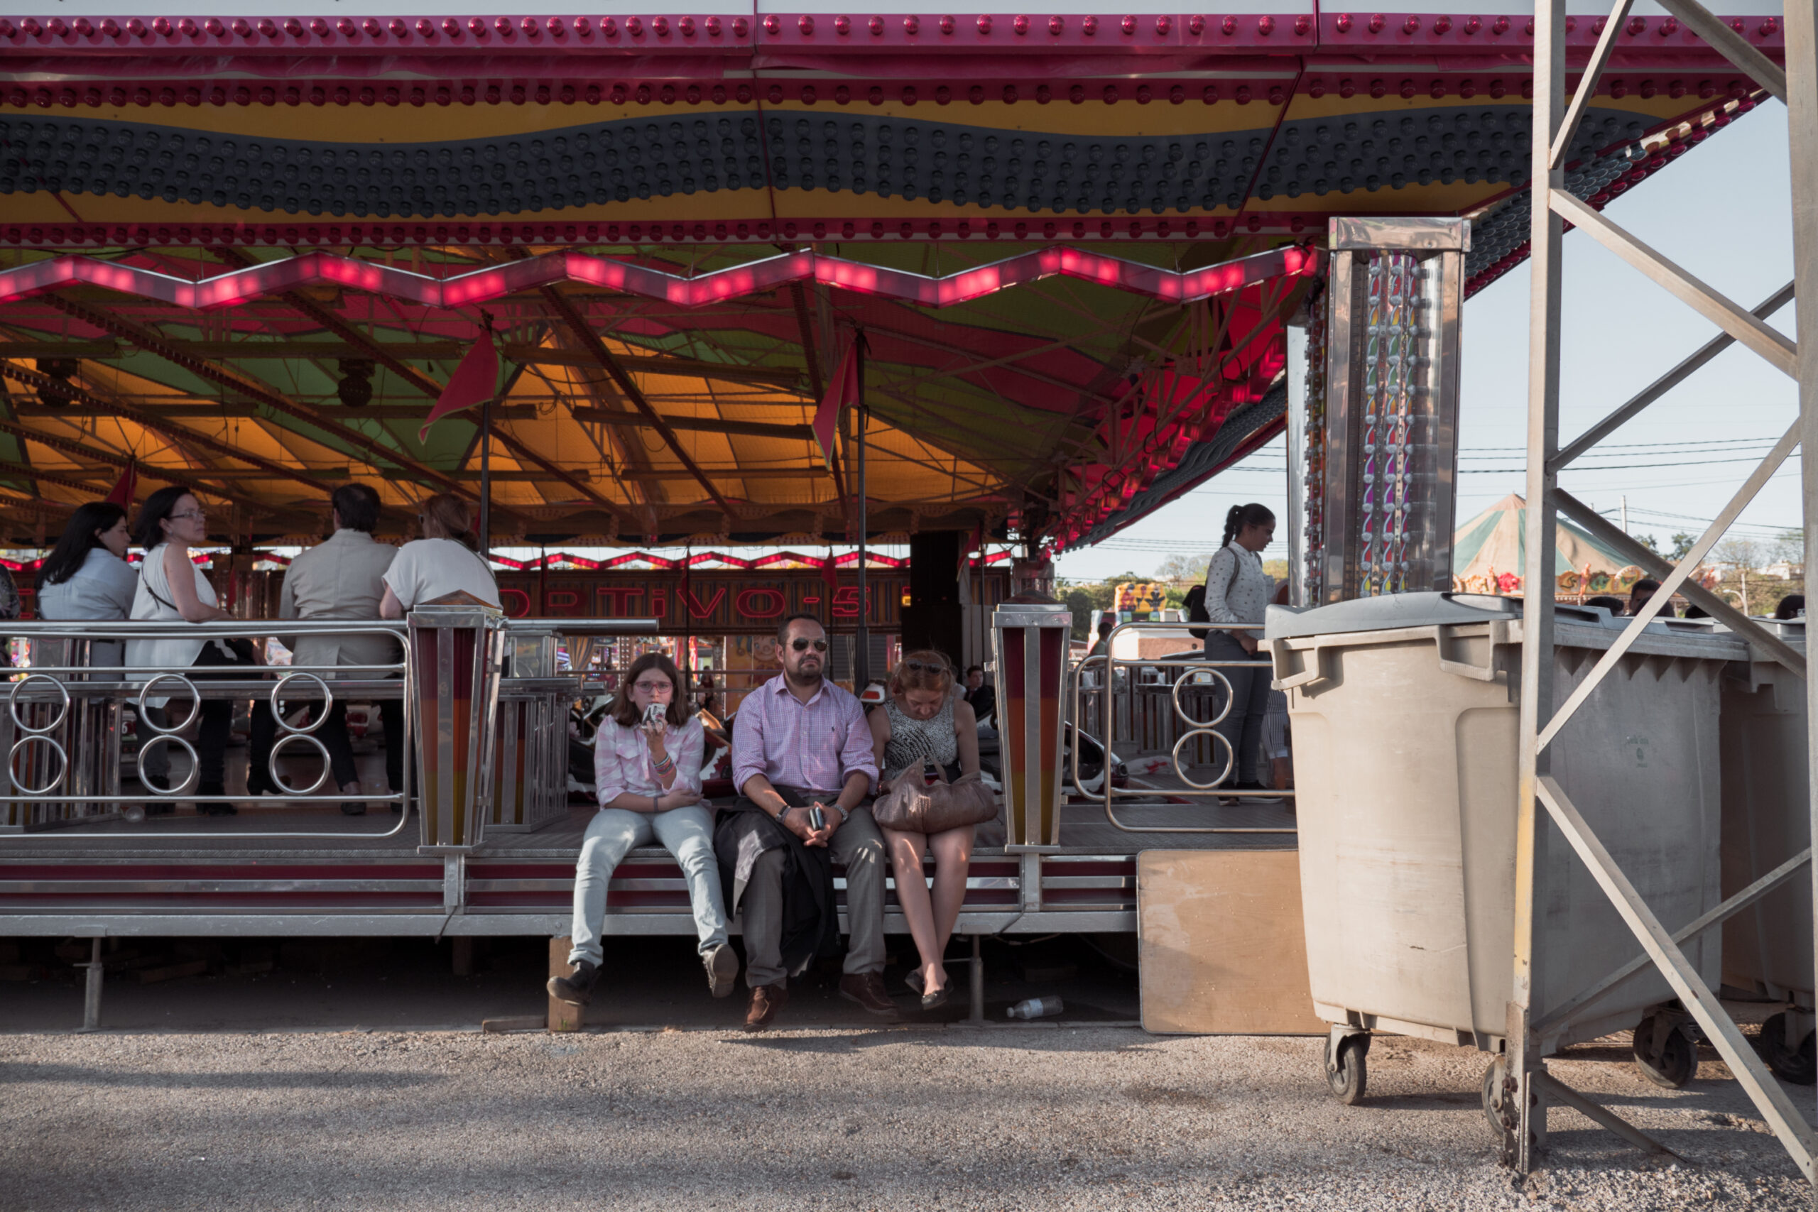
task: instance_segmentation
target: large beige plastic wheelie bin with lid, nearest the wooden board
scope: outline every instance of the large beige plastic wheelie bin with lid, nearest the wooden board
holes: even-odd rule
[[[1623,623],[1600,607],[1558,607],[1554,705]],[[1513,990],[1522,601],[1418,592],[1271,607],[1265,640],[1294,727],[1307,969],[1314,1012],[1333,1025],[1333,1092],[1362,1098],[1373,1030],[1500,1052]],[[1549,749],[1553,774],[1669,930],[1722,899],[1718,698],[1723,667],[1743,656],[1745,645],[1709,627],[1653,623]],[[1545,816],[1542,829],[1543,1023],[1642,945]],[[1714,985],[1718,932],[1685,954]],[[1654,1018],[1671,1007],[1647,965],[1549,1027],[1543,1045],[1642,1023],[1656,1068],[1683,1068],[1691,1041],[1678,1019]]]

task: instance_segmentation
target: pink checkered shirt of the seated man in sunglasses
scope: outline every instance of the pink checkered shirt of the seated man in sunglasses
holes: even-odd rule
[[[740,794],[753,774],[762,774],[773,787],[805,787],[833,798],[853,770],[864,770],[876,785],[878,761],[865,709],[847,690],[824,681],[804,703],[776,674],[738,705],[733,787]]]

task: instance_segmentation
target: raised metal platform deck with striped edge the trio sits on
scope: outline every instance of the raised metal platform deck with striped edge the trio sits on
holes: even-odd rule
[[[415,820],[389,832],[398,818],[384,810],[364,818],[180,810],[15,836],[0,845],[0,936],[560,936],[591,816],[591,807],[576,805],[538,830],[489,834],[469,854],[418,852]],[[1293,834],[1165,832],[1293,825],[1267,803],[1133,803],[1120,805],[1120,816],[1144,832],[1114,829],[1102,805],[1074,803],[1064,809],[1054,852],[978,850],[960,934],[1134,930],[1138,850],[1294,845]],[[674,859],[660,849],[634,850],[613,879],[607,932],[693,929]],[[907,930],[894,892],[885,929]]]

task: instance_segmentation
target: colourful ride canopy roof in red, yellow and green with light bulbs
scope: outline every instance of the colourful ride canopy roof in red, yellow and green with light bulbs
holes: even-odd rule
[[[1756,9],[1762,9],[1756,13]],[[1725,9],[1783,56],[1774,0]],[[1567,20],[1583,65],[1602,20]],[[476,496],[498,541],[1096,541],[1280,431],[1331,216],[1525,256],[1531,15],[538,15],[396,0],[0,16],[0,538],[125,467],[218,538],[327,491]],[[1565,154],[1593,207],[1754,82],[1636,7]],[[418,427],[493,323],[493,438]]]

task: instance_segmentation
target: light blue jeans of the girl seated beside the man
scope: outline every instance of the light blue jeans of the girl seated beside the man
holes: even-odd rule
[[[713,856],[713,812],[691,803],[667,812],[600,809],[580,843],[574,865],[574,925],[569,963],[600,965],[600,932],[605,925],[605,887],[613,870],[636,847],[662,843],[676,856],[694,909],[700,954],[725,941],[725,903],[720,899],[720,865]]]

